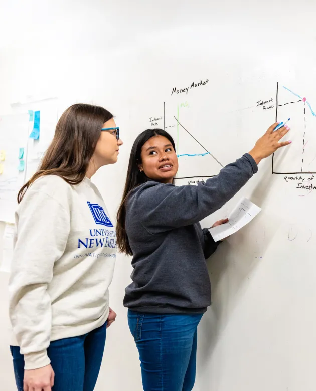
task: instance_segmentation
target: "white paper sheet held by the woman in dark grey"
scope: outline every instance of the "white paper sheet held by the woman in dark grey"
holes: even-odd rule
[[[228,216],[228,223],[210,228],[213,239],[218,242],[234,234],[248,224],[260,211],[261,208],[243,197]]]

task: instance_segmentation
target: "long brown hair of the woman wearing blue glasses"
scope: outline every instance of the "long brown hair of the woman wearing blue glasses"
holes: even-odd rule
[[[100,106],[77,103],[70,106],[56,125],[54,138],[38,171],[18,194],[18,203],[32,183],[44,175],[58,175],[69,184],[80,183],[86,174],[100,130],[113,115]]]

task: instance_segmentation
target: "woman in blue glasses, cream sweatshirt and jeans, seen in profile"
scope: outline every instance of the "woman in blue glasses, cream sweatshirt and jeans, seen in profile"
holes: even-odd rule
[[[104,350],[116,233],[91,176],[117,161],[113,115],[75,104],[21,188],[10,276],[19,391],[92,391]]]

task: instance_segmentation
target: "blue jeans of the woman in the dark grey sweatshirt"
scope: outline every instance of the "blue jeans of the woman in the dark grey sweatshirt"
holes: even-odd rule
[[[192,390],[201,318],[202,314],[160,315],[128,310],[144,391]]]

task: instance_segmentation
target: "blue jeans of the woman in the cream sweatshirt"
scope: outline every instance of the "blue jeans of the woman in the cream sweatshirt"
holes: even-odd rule
[[[102,362],[106,323],[79,337],[50,343],[47,354],[55,372],[53,391],[93,391]],[[18,391],[23,391],[24,357],[10,346]]]

